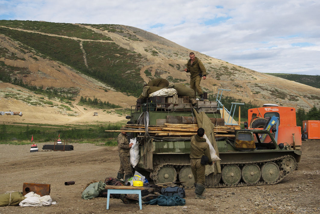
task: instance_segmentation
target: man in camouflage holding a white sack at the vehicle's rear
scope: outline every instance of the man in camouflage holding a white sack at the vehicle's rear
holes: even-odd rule
[[[126,132],[121,132],[118,135],[117,138],[118,141],[118,152],[119,152],[119,158],[120,158],[120,169],[118,171],[117,178],[123,179],[124,172],[125,172],[125,178],[128,179],[133,176],[131,167],[130,167],[130,148],[133,145],[132,143],[129,144],[129,141],[126,136]]]

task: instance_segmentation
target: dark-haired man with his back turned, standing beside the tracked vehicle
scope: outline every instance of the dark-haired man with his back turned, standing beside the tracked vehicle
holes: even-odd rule
[[[213,164],[211,160],[209,145],[207,144],[203,136],[204,129],[199,128],[197,130],[197,134],[191,137],[190,143],[190,164],[193,177],[195,178],[196,199],[205,199],[205,196],[202,195],[205,185],[205,165],[201,164],[202,156],[207,156],[209,159],[207,162],[210,165]]]

